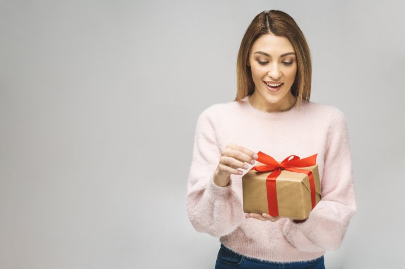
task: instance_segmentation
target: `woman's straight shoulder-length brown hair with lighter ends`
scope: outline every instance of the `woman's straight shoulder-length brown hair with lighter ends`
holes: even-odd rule
[[[305,36],[297,23],[290,15],[279,10],[263,11],[256,15],[242,38],[236,63],[237,92],[235,101],[239,101],[255,91],[252,71],[247,65],[249,51],[256,39],[268,33],[288,38],[295,49],[297,73],[291,86],[291,93],[297,96],[297,105],[300,105],[302,99],[309,100],[311,94],[311,53]]]

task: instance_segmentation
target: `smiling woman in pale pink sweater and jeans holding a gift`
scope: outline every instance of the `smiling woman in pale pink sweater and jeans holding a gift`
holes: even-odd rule
[[[237,57],[235,100],[197,120],[187,212],[198,232],[220,237],[216,268],[325,268],[356,202],[348,129],[332,105],[309,101],[310,52],[288,14],[270,10],[249,25]],[[244,213],[241,178],[256,152],[276,160],[317,153],[322,199],[304,221]],[[239,170],[241,169],[241,170]]]

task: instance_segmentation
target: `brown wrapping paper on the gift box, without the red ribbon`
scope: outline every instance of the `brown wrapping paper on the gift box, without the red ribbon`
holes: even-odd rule
[[[278,162],[280,163],[280,162]],[[264,165],[260,162],[255,166]],[[315,203],[321,199],[318,165],[300,167],[311,170],[315,183]],[[269,213],[266,178],[271,172],[251,170],[242,177],[243,204],[245,213]],[[303,173],[281,170],[276,180],[278,214],[280,217],[305,220],[312,210],[309,177]]]

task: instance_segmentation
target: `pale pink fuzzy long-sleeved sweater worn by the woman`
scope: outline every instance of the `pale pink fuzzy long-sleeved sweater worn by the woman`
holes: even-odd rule
[[[276,262],[312,260],[339,248],[356,210],[348,129],[335,106],[303,100],[285,112],[268,113],[240,102],[211,105],[198,117],[187,185],[187,212],[198,232],[219,237],[245,256]],[[242,206],[243,175],[215,185],[221,151],[236,143],[281,161],[318,153],[322,200],[308,219],[296,224],[246,219]],[[257,163],[257,162],[256,162]],[[249,169],[242,170],[244,175]]]

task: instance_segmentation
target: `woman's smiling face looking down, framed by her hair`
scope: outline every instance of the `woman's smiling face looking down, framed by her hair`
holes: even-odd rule
[[[262,97],[279,107],[295,100],[290,89],[297,73],[297,61],[294,47],[286,37],[260,36],[249,51],[247,65],[252,70],[256,99]]]

